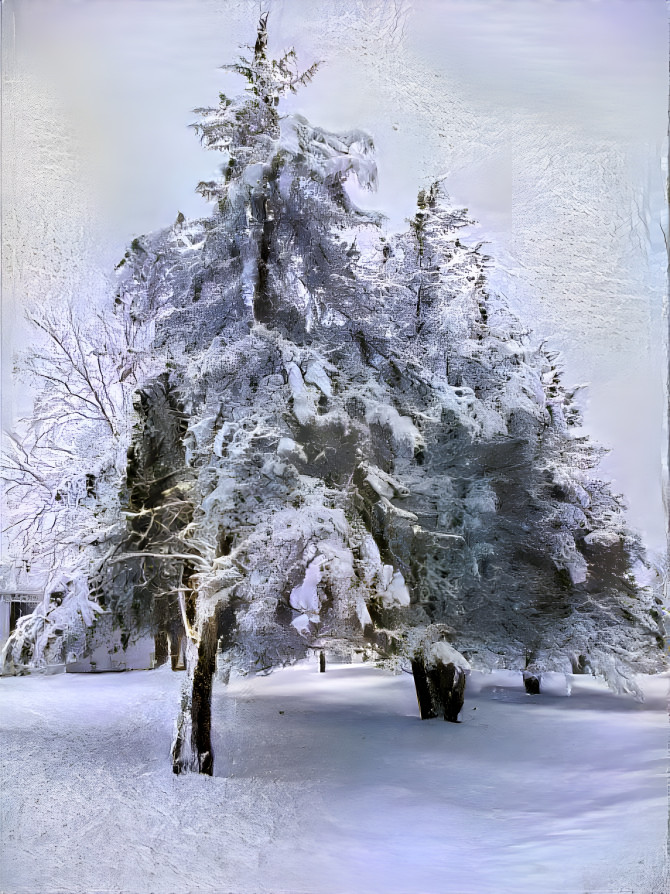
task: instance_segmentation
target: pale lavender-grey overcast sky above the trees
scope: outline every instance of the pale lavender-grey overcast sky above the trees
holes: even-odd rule
[[[399,228],[447,175],[494,285],[588,382],[589,430],[650,546],[664,542],[667,128],[663,0],[271,0],[270,45],[323,60],[291,108],[370,131]],[[239,85],[257,0],[5,0],[3,421],[22,299],[108,294],[136,235],[217,164],[190,110]]]

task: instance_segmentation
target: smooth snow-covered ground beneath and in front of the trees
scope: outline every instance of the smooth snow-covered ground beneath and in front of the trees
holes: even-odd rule
[[[215,688],[215,777],[176,777],[183,674],[0,679],[5,894],[666,891],[668,677],[640,705],[474,674],[303,664]]]

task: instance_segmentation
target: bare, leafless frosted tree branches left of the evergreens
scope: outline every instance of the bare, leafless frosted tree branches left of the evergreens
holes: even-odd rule
[[[83,321],[72,304],[28,309],[33,339],[16,371],[32,389],[33,410],[6,435],[0,476],[10,554],[46,575],[47,586],[34,617],[5,644],[0,672],[77,660],[91,645],[106,564],[125,532],[120,498],[133,392],[151,369],[157,296],[150,281],[143,291],[144,316],[123,288],[109,313]],[[89,596],[96,610],[86,607]],[[47,649],[50,628],[60,633],[48,635]]]

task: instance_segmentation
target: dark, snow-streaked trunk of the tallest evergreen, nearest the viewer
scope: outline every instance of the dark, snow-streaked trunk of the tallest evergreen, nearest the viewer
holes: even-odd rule
[[[212,678],[216,670],[217,626],[216,615],[204,622],[197,652],[195,644],[189,643],[189,679],[172,747],[172,769],[177,774],[191,771],[211,776],[214,771]]]

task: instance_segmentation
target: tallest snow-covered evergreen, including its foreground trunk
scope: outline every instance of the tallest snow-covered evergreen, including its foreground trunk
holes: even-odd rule
[[[361,426],[330,408],[330,377],[361,311],[355,234],[378,225],[344,182],[374,184],[372,142],[280,118],[279,97],[315,66],[295,71],[293,51],[268,60],[266,40],[264,17],[233,66],[247,97],[198,110],[201,139],[225,157],[199,187],[214,213],[139,242],[144,280],[159,267],[168,296],[155,350],[169,371],[136,400],[129,536],[110,589],[123,623],[141,618],[173,646],[180,622],[187,633],[177,771],[211,772],[217,645],[265,669],[362,644],[369,621],[348,510]],[[138,307],[144,280],[129,273]]]

